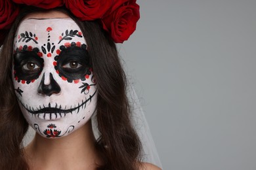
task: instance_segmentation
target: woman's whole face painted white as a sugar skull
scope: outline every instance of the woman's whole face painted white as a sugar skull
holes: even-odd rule
[[[96,110],[87,46],[71,18],[24,20],[14,39],[13,83],[24,117],[43,137],[63,137]]]

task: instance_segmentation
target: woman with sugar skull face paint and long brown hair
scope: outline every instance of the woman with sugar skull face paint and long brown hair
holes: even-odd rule
[[[159,169],[140,161],[140,141],[131,125],[125,74],[114,44],[123,39],[102,29],[111,17],[101,24],[81,22],[62,1],[56,2],[61,3],[52,10],[45,10],[49,5],[23,6],[5,37],[0,169]],[[122,3],[135,1],[116,1],[105,12]],[[98,141],[91,126],[94,112]],[[37,133],[23,148],[29,125]]]

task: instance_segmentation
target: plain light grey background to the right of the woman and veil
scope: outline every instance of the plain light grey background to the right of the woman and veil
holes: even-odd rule
[[[163,169],[256,169],[256,1],[138,0],[119,45]]]

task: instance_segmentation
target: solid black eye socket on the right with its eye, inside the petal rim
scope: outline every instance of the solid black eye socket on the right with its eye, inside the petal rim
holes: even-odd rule
[[[57,65],[60,76],[72,80],[83,79],[85,75],[91,75],[89,54],[85,48],[79,46],[70,46],[68,48],[60,48],[62,51],[58,55]]]

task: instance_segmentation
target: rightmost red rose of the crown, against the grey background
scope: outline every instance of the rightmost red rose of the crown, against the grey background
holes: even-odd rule
[[[122,43],[129,39],[136,29],[140,18],[139,5],[136,0],[130,0],[115,8],[116,10],[102,18],[103,29],[110,33],[115,42]]]

